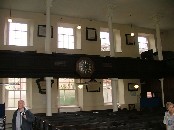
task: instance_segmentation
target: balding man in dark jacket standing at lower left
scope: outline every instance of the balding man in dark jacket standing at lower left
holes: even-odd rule
[[[13,113],[12,130],[32,130],[34,115],[24,107],[23,100],[18,101],[18,109]]]

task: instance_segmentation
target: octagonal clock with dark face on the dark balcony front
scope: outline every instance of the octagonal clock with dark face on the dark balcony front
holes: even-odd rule
[[[91,77],[94,72],[94,62],[88,57],[81,57],[76,62],[76,71],[81,77]]]

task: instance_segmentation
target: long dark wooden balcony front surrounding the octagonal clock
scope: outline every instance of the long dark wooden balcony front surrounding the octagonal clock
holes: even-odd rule
[[[157,60],[84,54],[0,51],[0,77],[84,78],[76,72],[76,62],[81,57],[89,57],[95,66],[92,76],[85,78],[158,79],[165,75],[164,62]]]

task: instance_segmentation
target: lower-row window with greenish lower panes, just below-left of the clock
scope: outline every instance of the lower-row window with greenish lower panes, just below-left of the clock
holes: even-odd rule
[[[59,78],[59,101],[60,106],[76,105],[76,86],[74,79]]]

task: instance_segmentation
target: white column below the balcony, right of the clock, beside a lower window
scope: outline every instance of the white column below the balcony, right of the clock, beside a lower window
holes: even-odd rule
[[[111,86],[112,86],[112,105],[113,105],[113,112],[118,111],[118,97],[117,97],[117,92],[118,92],[118,79],[117,78],[112,78],[111,79]]]

